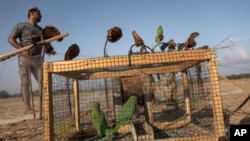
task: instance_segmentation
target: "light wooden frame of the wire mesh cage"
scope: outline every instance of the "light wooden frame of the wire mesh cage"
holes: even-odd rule
[[[128,61],[129,60],[129,61]],[[211,82],[211,97],[213,102],[213,123],[215,125],[215,137],[205,136],[205,140],[220,140],[224,138],[224,120],[222,112],[222,102],[220,96],[220,85],[218,80],[218,71],[216,63],[216,50],[215,49],[199,49],[199,50],[186,50],[179,52],[161,52],[151,54],[135,54],[131,56],[111,56],[100,58],[89,58],[73,61],[56,61],[43,63],[43,110],[44,110],[44,139],[45,141],[54,140],[54,126],[53,126],[53,97],[52,97],[52,74],[58,74],[73,79],[74,89],[74,113],[76,118],[76,129],[79,130],[79,91],[78,81],[97,79],[97,78],[114,78],[140,75],[141,72],[145,74],[153,73],[169,73],[175,71],[182,71],[184,82],[184,95],[187,116],[184,120],[176,121],[179,124],[187,124],[191,120],[189,103],[189,90],[187,81],[187,68],[195,66],[203,61],[208,61],[209,79]],[[114,63],[115,62],[115,63]],[[154,68],[136,68],[136,66],[153,65],[153,64],[166,64],[181,62],[171,66],[157,66]],[[89,65],[95,64],[95,65]],[[53,66],[67,66],[65,68],[57,68]],[[109,71],[108,68],[119,68],[124,66],[135,66],[131,70]],[[102,72],[91,72],[89,70],[103,70]],[[86,71],[86,73],[82,73]],[[121,73],[122,72],[122,73]],[[146,102],[147,108],[150,107],[149,101]],[[148,109],[150,110],[150,109]],[[150,115],[148,115],[149,121]],[[152,122],[153,123],[153,122]],[[174,123],[155,123],[155,126],[161,124],[163,126],[171,126]],[[173,127],[174,128],[174,127]],[[185,137],[185,140],[194,140],[197,137]],[[200,137],[198,137],[200,138]],[[179,139],[179,138],[178,138]],[[176,140],[176,138],[161,139],[161,140]],[[181,140],[181,138],[180,138]]]

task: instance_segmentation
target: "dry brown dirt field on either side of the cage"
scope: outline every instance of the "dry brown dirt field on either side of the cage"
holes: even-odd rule
[[[244,89],[250,91],[250,79],[234,80]],[[250,101],[232,113],[247,97],[248,93],[242,91],[231,83],[221,80],[221,95],[225,111],[226,126],[230,124],[250,124]],[[35,110],[38,111],[39,97],[35,97]],[[0,141],[27,141],[43,140],[43,121],[36,119],[33,114],[23,113],[23,103],[20,97],[0,99]],[[233,114],[229,116],[230,114]]]

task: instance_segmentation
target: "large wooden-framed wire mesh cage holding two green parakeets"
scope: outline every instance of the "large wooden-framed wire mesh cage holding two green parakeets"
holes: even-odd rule
[[[95,126],[95,103],[115,140],[224,139],[213,49],[46,62],[43,68],[45,140],[110,139]],[[128,102],[132,96],[136,104]],[[131,119],[125,118],[128,105],[135,106]]]

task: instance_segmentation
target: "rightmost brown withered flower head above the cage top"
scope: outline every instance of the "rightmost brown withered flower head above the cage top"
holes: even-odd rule
[[[198,32],[191,33],[185,43],[181,43],[178,45],[178,50],[182,50],[183,48],[185,48],[185,50],[190,48],[194,49],[194,47],[196,46],[195,38],[198,36]]]

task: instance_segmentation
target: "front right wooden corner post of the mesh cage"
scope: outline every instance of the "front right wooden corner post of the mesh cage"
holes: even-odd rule
[[[225,136],[225,126],[223,119],[222,100],[220,95],[220,85],[218,79],[215,50],[211,50],[211,59],[208,61],[208,68],[211,82],[215,133],[218,138],[221,138]]]

